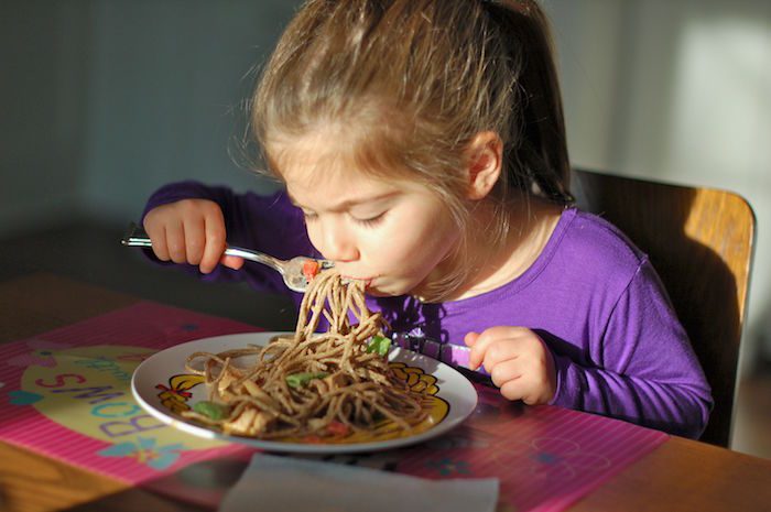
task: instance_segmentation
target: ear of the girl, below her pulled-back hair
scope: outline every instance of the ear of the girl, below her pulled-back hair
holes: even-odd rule
[[[466,149],[466,165],[467,197],[484,199],[498,183],[503,166],[503,141],[498,133],[482,131],[474,135]]]

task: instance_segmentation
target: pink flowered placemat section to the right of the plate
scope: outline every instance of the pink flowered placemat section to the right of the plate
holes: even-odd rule
[[[664,443],[669,435],[554,406],[503,403],[477,385],[470,421],[406,451],[398,470],[428,478],[499,478],[506,511],[556,512]]]

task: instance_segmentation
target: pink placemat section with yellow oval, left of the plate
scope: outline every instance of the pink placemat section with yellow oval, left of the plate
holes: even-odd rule
[[[213,457],[251,453],[144,412],[133,369],[158,350],[253,326],[142,302],[0,345],[0,439],[133,484]]]

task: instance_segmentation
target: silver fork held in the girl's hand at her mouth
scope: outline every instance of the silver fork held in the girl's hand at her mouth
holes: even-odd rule
[[[129,228],[123,235],[121,243],[127,247],[152,247],[152,241],[150,237],[144,232],[139,225],[131,222]],[[318,260],[316,258],[308,257],[294,257],[291,260],[280,260],[264,252],[252,251],[251,249],[245,249],[241,247],[228,246],[225,249],[225,254],[235,255],[243,258],[245,260],[256,261],[268,265],[273,270],[279,271],[281,276],[284,279],[286,287],[295,292],[305,292],[308,285],[308,280],[303,273],[303,265],[306,261],[316,261],[321,270],[332,269],[335,264],[329,260]]]

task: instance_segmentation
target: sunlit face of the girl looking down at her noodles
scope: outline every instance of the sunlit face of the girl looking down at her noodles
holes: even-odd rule
[[[369,176],[314,149],[292,144],[281,168],[314,247],[372,295],[420,295],[460,238],[448,209],[425,186]]]

